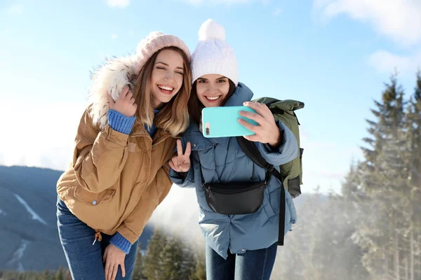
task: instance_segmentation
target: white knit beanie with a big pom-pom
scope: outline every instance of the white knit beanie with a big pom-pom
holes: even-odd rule
[[[239,84],[239,67],[234,50],[225,42],[225,29],[206,20],[199,29],[199,43],[192,54],[192,83],[206,74],[219,74]]]

